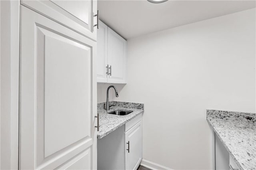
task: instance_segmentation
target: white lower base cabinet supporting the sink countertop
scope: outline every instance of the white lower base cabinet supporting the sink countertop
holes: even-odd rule
[[[98,170],[136,170],[142,160],[142,115],[98,139]]]

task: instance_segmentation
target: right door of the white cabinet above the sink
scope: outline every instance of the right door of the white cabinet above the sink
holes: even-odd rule
[[[126,83],[126,48],[126,40],[108,28],[108,83]]]

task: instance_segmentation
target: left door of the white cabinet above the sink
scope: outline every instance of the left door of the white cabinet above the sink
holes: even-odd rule
[[[107,83],[108,77],[108,26],[99,21],[97,32],[97,82]]]

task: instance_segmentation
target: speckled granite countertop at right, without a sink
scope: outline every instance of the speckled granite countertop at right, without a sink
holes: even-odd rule
[[[207,110],[206,119],[238,167],[255,170],[256,114]]]

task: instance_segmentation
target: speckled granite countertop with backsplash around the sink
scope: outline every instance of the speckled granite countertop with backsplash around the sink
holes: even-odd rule
[[[117,128],[124,125],[126,122],[130,121],[134,117],[138,116],[141,113],[144,113],[144,104],[142,103],[128,103],[128,102],[117,102],[117,101],[110,101],[109,105],[113,105],[110,107],[109,111],[106,111],[105,103],[98,103],[98,113],[99,113],[99,132],[98,132],[98,139],[103,138],[110,132],[113,132]],[[128,110],[133,111],[132,113],[124,116],[120,115],[112,115],[108,114],[110,111],[114,110]]]

